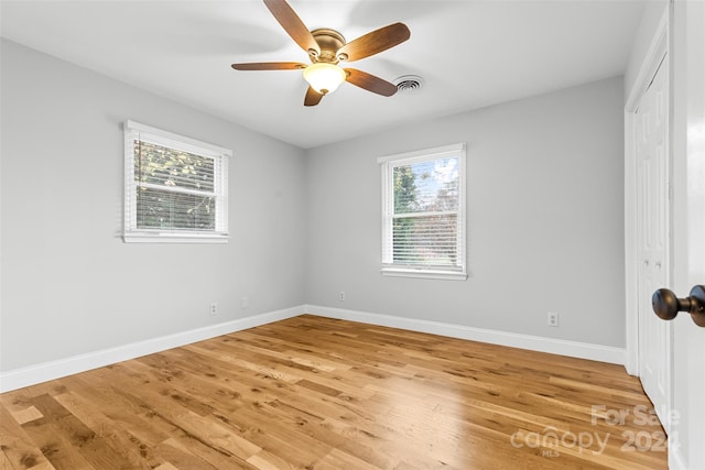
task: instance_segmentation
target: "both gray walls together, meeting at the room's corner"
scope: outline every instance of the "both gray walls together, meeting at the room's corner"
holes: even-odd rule
[[[620,77],[303,151],[7,41],[1,72],[2,371],[302,304],[623,346]],[[232,149],[228,244],[121,241],[127,119]],[[457,142],[469,278],[382,277],[377,157]]]

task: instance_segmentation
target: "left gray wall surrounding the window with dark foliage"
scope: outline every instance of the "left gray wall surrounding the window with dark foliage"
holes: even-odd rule
[[[303,304],[302,150],[7,41],[1,78],[0,370]],[[127,119],[234,151],[229,243],[122,242]]]

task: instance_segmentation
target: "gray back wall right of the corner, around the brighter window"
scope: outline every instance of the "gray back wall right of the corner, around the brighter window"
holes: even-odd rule
[[[306,302],[623,347],[622,121],[616,77],[310,151]],[[381,276],[377,157],[457,142],[469,278]]]

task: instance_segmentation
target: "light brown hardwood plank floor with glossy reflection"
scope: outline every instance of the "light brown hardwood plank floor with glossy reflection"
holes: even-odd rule
[[[0,395],[0,469],[660,469],[622,367],[301,316]]]

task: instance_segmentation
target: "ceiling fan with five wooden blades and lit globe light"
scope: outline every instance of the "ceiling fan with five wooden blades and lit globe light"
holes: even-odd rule
[[[311,64],[300,62],[259,62],[232,64],[236,70],[303,70],[308,89],[304,106],[316,106],[321,99],[343,81],[382,96],[392,96],[397,86],[375,75],[355,68],[341,68],[340,62],[354,62],[378,54],[403,43],[411,36],[403,23],[394,23],[375,30],[346,43],[343,34],[335,30],[308,31],[296,12],[284,0],[264,0],[264,4],[284,31],[308,53]]]

